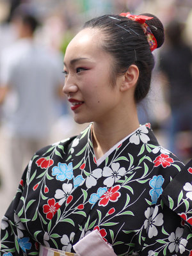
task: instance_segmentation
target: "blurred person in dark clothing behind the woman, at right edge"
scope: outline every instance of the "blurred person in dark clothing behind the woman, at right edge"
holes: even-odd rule
[[[184,160],[192,154],[192,52],[185,41],[184,24],[172,20],[166,27],[166,46],[159,54],[159,68],[166,77],[166,100],[171,108],[169,149]],[[180,132],[189,131],[186,140]]]

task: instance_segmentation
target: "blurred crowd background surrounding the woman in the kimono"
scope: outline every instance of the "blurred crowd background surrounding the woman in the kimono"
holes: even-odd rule
[[[163,22],[166,40],[154,51],[140,123],[150,122],[159,143],[184,163],[191,159],[191,0],[0,0],[0,219],[31,150],[86,126],[74,122],[62,93],[68,42],[86,20],[121,12],[152,13]]]

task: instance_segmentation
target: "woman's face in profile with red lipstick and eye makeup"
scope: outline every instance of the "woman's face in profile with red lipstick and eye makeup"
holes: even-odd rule
[[[97,29],[80,31],[67,47],[64,58],[66,93],[74,120],[104,122],[118,114],[121,77],[111,84],[113,57],[102,50],[104,35]]]

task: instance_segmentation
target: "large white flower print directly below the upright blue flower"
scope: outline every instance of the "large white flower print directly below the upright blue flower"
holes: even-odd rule
[[[145,217],[147,218],[147,220],[145,220],[144,222],[144,227],[147,228],[149,238],[157,236],[158,231],[156,226],[158,227],[163,225],[163,214],[157,214],[158,210],[159,208],[156,205],[155,208],[148,207],[145,211]]]

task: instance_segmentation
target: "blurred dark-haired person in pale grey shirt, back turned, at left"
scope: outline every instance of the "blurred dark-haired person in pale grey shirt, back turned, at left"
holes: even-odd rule
[[[49,141],[58,117],[62,62],[35,42],[40,24],[35,15],[16,10],[12,22],[19,38],[1,54],[0,104],[6,102],[3,125],[10,135],[12,171],[18,181],[31,154]]]

